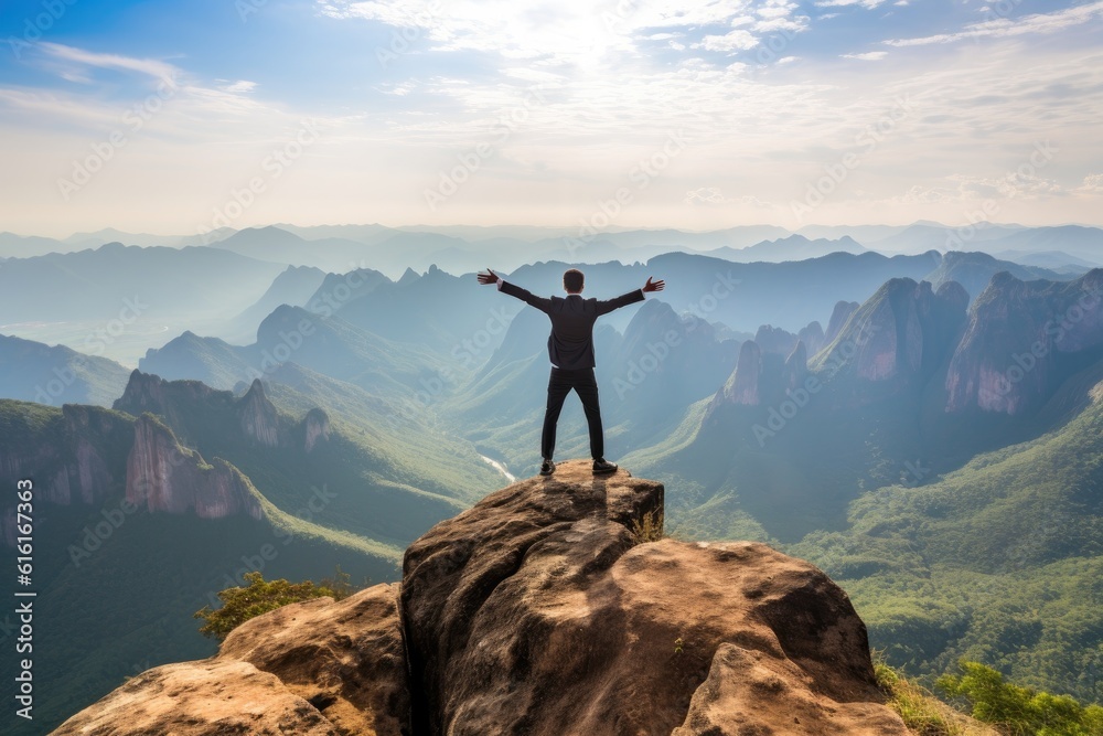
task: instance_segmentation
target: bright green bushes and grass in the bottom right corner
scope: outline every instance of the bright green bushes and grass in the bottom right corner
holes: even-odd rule
[[[946,674],[938,687],[968,704],[973,717],[1009,736],[1099,736],[1103,707],[1084,707],[1067,695],[1051,695],[1004,682],[978,662],[960,663],[961,674]]]

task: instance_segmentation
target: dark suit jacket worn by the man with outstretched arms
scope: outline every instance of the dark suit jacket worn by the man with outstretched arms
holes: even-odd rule
[[[580,294],[568,294],[566,299],[545,299],[506,281],[502,281],[502,291],[552,318],[548,358],[553,365],[567,371],[593,367],[593,323],[599,317],[644,299],[643,289],[629,291],[615,299],[583,299]]]

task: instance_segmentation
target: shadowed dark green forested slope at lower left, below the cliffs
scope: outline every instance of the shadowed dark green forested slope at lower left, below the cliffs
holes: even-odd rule
[[[47,508],[35,532],[35,719],[6,733],[43,734],[120,685],[167,662],[207,657],[215,643],[192,614],[218,590],[263,569],[266,577],[320,579],[335,565],[354,583],[393,579],[398,551],[288,518],[197,519],[120,510]],[[122,523],[109,535],[104,511]],[[90,552],[88,551],[90,550]],[[9,640],[11,640],[9,638]],[[13,682],[15,659],[3,675]],[[8,687],[7,690],[11,690]],[[14,718],[9,724],[15,726]]]

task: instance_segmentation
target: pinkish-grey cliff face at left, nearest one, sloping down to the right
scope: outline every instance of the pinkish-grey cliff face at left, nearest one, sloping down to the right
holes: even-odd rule
[[[154,512],[193,512],[203,519],[261,516],[259,494],[237,468],[221,458],[205,462],[151,414],[135,423],[126,494],[139,509]]]

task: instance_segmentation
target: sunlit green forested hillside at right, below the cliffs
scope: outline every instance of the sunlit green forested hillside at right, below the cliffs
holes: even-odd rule
[[[789,552],[854,598],[875,648],[938,675],[961,658],[1020,684],[1103,700],[1103,386],[1064,427],[928,486],[850,505]]]

